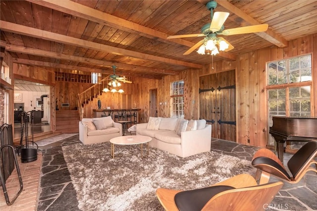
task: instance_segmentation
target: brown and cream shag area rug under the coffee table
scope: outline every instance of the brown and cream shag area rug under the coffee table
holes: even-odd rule
[[[157,188],[190,190],[254,172],[249,161],[216,152],[180,158],[150,147],[142,159],[139,145],[115,145],[112,159],[109,142],[62,150],[82,211],[159,211]]]

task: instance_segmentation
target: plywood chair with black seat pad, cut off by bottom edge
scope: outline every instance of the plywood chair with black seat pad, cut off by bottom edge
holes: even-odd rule
[[[264,210],[282,182],[257,185],[249,174],[239,174],[207,188],[179,191],[159,188],[157,197],[166,211]]]

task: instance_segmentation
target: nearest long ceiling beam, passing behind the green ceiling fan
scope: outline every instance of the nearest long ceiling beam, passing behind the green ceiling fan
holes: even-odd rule
[[[70,1],[70,0],[28,0],[28,1],[60,11],[60,12],[64,12],[64,13],[71,14],[80,18],[94,21],[102,25],[110,26],[115,29],[138,34],[150,39],[156,39],[156,40],[159,40],[160,42],[165,42],[168,44],[177,43],[177,44],[181,44],[188,47],[192,47],[193,45],[196,44],[194,42],[190,42],[184,39],[168,40],[167,37],[170,35],[166,33],[159,32],[157,30],[142,26],[137,23],[133,23],[123,18],[116,17],[114,15],[82,5],[74,1]],[[220,52],[216,56],[219,56],[222,59],[226,59],[230,61],[236,60],[236,56],[228,52]]]

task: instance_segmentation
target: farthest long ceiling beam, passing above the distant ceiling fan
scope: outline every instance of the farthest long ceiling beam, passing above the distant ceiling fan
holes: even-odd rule
[[[91,73],[104,73],[104,74],[109,74],[109,75],[113,74],[112,68],[111,68],[111,70],[105,70],[105,69],[98,69],[98,68],[89,68],[89,67],[56,64],[56,63],[52,63],[52,62],[43,62],[43,61],[19,59],[19,58],[12,58],[12,62],[18,63],[18,64],[26,64],[26,65],[34,65],[34,66],[42,66],[42,67],[62,68],[62,69],[67,69],[67,70],[80,70],[80,71],[91,72]],[[128,66],[134,66],[134,65],[128,65]],[[102,68],[102,66],[101,66],[101,68]],[[156,77],[153,75],[146,75],[146,74],[134,74],[134,73],[128,73],[128,72],[121,72],[121,71],[116,71],[116,73],[119,75],[126,75],[126,76],[132,76],[132,77],[141,77],[142,76],[143,78],[147,78],[147,79],[161,79],[161,77]]]

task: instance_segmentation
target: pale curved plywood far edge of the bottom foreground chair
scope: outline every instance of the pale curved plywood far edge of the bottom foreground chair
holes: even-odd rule
[[[244,187],[250,187],[250,186],[257,185],[257,181],[250,174],[243,173],[243,174],[233,176],[233,177],[226,179],[222,182],[218,182],[216,184],[213,184],[211,186],[216,186],[216,185],[228,185],[228,186],[231,186],[234,188],[244,188]]]

